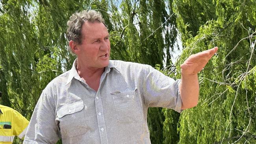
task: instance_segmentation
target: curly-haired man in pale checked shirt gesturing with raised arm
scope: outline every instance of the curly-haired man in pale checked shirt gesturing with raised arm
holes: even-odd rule
[[[24,144],[150,144],[147,109],[180,112],[197,105],[197,73],[217,51],[191,55],[174,81],[151,66],[109,60],[109,33],[100,13],[70,17],[72,69],[52,80],[33,112]]]

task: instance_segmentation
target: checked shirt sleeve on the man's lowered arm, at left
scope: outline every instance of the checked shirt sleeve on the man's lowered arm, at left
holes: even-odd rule
[[[60,138],[55,122],[55,101],[50,92],[42,92],[30,119],[23,144],[56,144]]]

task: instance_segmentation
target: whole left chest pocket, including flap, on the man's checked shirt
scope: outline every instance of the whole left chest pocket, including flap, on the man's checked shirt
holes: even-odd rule
[[[61,106],[57,111],[61,137],[74,137],[87,132],[83,114],[83,101],[74,102]]]

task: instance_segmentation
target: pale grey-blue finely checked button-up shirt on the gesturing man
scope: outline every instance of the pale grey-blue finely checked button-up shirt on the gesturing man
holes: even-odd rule
[[[148,107],[180,112],[179,83],[149,65],[110,60],[96,92],[74,61],[43,90],[23,144],[150,144]]]

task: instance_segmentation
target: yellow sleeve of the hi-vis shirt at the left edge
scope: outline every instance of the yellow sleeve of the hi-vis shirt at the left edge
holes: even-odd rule
[[[13,110],[13,135],[23,138],[28,128],[28,120],[19,112]]]

